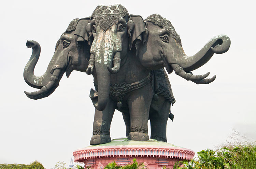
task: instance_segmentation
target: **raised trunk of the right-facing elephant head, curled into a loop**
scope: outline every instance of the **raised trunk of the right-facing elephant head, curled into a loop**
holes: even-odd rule
[[[177,61],[184,71],[193,71],[207,63],[214,53],[222,54],[228,51],[230,39],[227,35],[218,35],[212,38],[204,47],[195,55],[188,57],[184,51],[181,52],[181,59]]]

